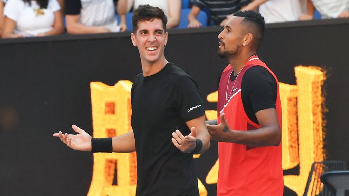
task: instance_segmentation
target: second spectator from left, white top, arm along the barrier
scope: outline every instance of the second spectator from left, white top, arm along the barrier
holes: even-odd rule
[[[113,0],[65,1],[67,32],[70,34],[119,32]]]

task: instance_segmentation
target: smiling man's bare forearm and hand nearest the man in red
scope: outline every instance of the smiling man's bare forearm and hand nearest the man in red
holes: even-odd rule
[[[183,136],[180,130],[176,130],[172,133],[173,144],[183,153],[192,153],[196,148],[196,140],[199,139],[202,141],[202,148],[199,153],[204,153],[210,147],[210,136],[205,124],[205,115],[189,120],[186,124],[191,130],[190,134]]]

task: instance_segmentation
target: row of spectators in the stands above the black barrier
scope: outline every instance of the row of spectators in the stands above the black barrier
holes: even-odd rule
[[[0,0],[0,35],[20,38],[130,31],[127,15],[141,4],[163,9],[169,29],[223,26],[238,10],[258,11],[266,23],[312,20],[316,15],[349,18],[349,0]],[[200,14],[205,20],[199,19]]]

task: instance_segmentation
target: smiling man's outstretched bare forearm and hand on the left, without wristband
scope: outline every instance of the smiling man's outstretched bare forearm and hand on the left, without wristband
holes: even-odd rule
[[[63,134],[60,131],[58,133],[54,133],[53,136],[59,137],[63,143],[67,144],[68,147],[74,150],[92,151],[92,136],[76,125],[73,125],[72,128],[77,134]],[[114,152],[128,153],[135,151],[133,131],[127,132],[120,136],[115,136],[111,139],[111,141]]]

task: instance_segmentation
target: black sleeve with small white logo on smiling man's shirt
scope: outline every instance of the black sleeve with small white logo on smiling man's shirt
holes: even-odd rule
[[[180,76],[175,92],[179,113],[185,122],[205,115],[198,86],[190,76]]]

